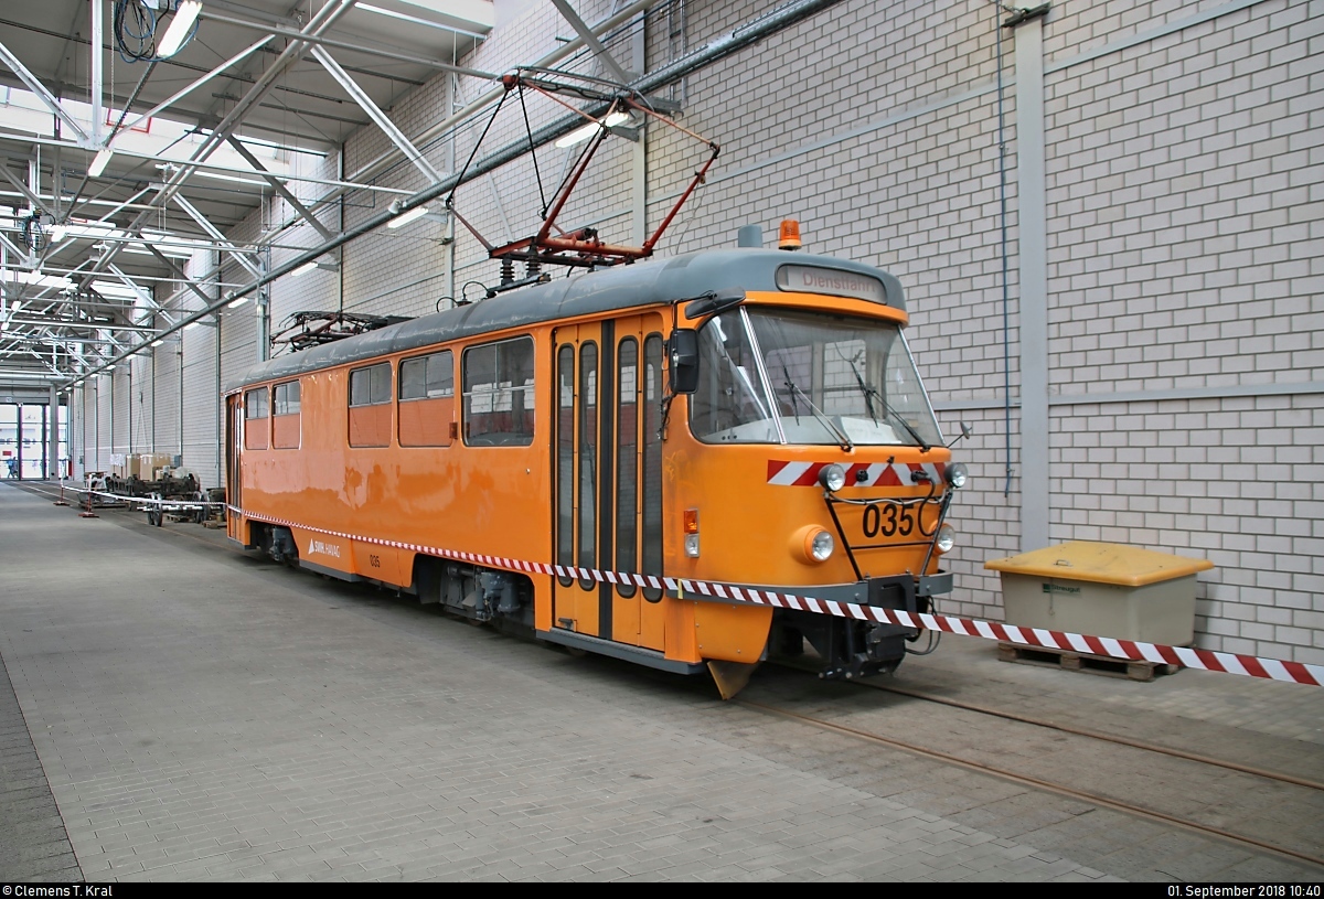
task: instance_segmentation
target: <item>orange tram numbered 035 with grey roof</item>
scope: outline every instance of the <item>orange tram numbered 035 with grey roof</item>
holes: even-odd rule
[[[910,612],[951,591],[965,467],[906,322],[884,271],[726,249],[279,356],[226,388],[229,536],[572,650],[707,666],[724,695],[769,655],[891,671],[918,632],[730,588]]]

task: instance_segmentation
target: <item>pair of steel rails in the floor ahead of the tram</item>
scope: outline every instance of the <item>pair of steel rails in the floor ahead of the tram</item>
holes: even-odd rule
[[[873,685],[865,683],[862,686],[873,686]],[[1082,736],[1082,737],[1100,740],[1100,741],[1107,741],[1107,743],[1117,743],[1117,744],[1121,744],[1121,745],[1127,745],[1127,747],[1131,747],[1131,748],[1136,748],[1136,749],[1141,749],[1141,751],[1148,751],[1148,752],[1157,752],[1157,753],[1161,753],[1161,755],[1165,755],[1165,756],[1170,756],[1170,757],[1174,757],[1174,759],[1181,759],[1184,761],[1194,761],[1197,764],[1205,764],[1205,765],[1213,765],[1213,767],[1218,767],[1218,768],[1225,768],[1225,769],[1235,771],[1237,773],[1241,773],[1241,775],[1249,775],[1249,776],[1253,776],[1253,777],[1260,777],[1260,779],[1270,780],[1270,781],[1276,781],[1276,782],[1282,782],[1282,784],[1290,784],[1292,786],[1300,786],[1300,788],[1305,788],[1305,789],[1309,789],[1309,790],[1324,790],[1324,785],[1321,785],[1321,784],[1319,784],[1316,781],[1312,781],[1312,780],[1308,780],[1308,779],[1295,777],[1295,776],[1291,776],[1291,775],[1284,775],[1283,772],[1271,772],[1271,771],[1264,771],[1264,769],[1256,769],[1256,768],[1250,767],[1250,765],[1241,765],[1238,763],[1231,763],[1231,761],[1222,760],[1222,759],[1213,759],[1210,756],[1204,756],[1201,753],[1194,753],[1194,752],[1186,752],[1186,751],[1181,751],[1181,749],[1174,749],[1172,747],[1162,747],[1162,745],[1158,745],[1158,744],[1151,744],[1151,743],[1145,743],[1145,741],[1141,741],[1141,740],[1131,740],[1129,737],[1120,737],[1120,736],[1116,736],[1116,735],[1103,733],[1103,732],[1098,732],[1098,731],[1090,731],[1087,728],[1074,728],[1071,726],[1063,726],[1063,724],[1058,724],[1058,723],[1054,723],[1054,722],[1043,722],[1043,720],[1033,719],[1030,716],[1018,715],[1018,714],[1014,714],[1014,712],[1006,712],[1006,711],[1002,711],[1002,710],[990,710],[990,708],[986,708],[986,707],[980,707],[980,706],[976,706],[976,704],[972,704],[972,703],[963,703],[963,702],[957,702],[957,700],[948,700],[945,698],[935,698],[935,696],[923,694],[920,691],[911,691],[911,690],[906,690],[906,688],[892,688],[892,687],[883,687],[883,686],[876,686],[875,688],[884,690],[884,691],[888,691],[888,692],[896,692],[896,694],[900,694],[900,695],[908,695],[908,696],[912,696],[912,698],[916,698],[916,699],[922,699],[922,700],[927,700],[927,702],[935,702],[935,703],[939,703],[939,704],[951,706],[951,707],[955,707],[955,708],[960,708],[963,711],[972,711],[972,712],[977,712],[977,714],[982,714],[982,715],[989,715],[989,716],[993,716],[993,718],[1012,720],[1012,722],[1017,722],[1019,724],[1027,724],[1027,726],[1031,726],[1031,727],[1041,727],[1041,728],[1046,728],[1046,730],[1062,731],[1062,732],[1066,732],[1066,733],[1071,733],[1074,736]],[[1204,821],[1196,821],[1196,820],[1192,820],[1189,817],[1182,817],[1180,814],[1172,814],[1172,813],[1164,812],[1161,809],[1155,809],[1155,808],[1148,808],[1148,806],[1144,806],[1144,805],[1139,805],[1136,802],[1127,801],[1125,798],[1119,798],[1119,797],[1113,797],[1113,796],[1106,796],[1106,794],[1095,792],[1095,790],[1082,789],[1082,788],[1078,788],[1078,786],[1071,786],[1068,784],[1063,784],[1063,782],[1059,782],[1059,781],[1049,780],[1049,779],[1045,779],[1045,777],[1037,777],[1037,776],[1033,776],[1033,775],[1026,775],[1023,772],[1012,771],[1012,769],[1009,769],[1006,767],[1001,767],[1001,765],[997,765],[997,764],[990,764],[988,761],[982,761],[982,760],[978,760],[978,759],[972,759],[972,757],[968,757],[968,756],[956,755],[953,752],[947,752],[947,751],[936,749],[936,748],[932,748],[932,747],[919,745],[916,743],[911,743],[911,741],[907,741],[907,740],[896,739],[895,736],[876,733],[876,732],[873,732],[873,731],[862,730],[859,727],[853,727],[853,726],[843,724],[843,723],[839,723],[839,722],[830,722],[830,720],[826,720],[824,718],[818,718],[818,716],[814,716],[814,715],[806,715],[806,714],[800,712],[800,711],[794,711],[794,710],[790,710],[790,708],[782,708],[782,707],[779,707],[779,706],[775,706],[775,704],[769,704],[769,703],[765,703],[765,702],[760,702],[760,700],[755,700],[755,699],[747,699],[747,698],[737,698],[737,699],[733,699],[732,702],[735,702],[736,704],[744,706],[745,708],[749,708],[749,710],[753,710],[753,711],[757,711],[757,712],[761,712],[761,714],[765,714],[765,715],[772,715],[772,716],[777,716],[777,718],[784,718],[786,720],[798,722],[798,723],[806,724],[809,727],[816,727],[818,730],[824,730],[824,731],[839,733],[839,735],[843,735],[843,736],[847,736],[847,737],[854,737],[854,739],[858,739],[858,740],[869,741],[869,743],[873,743],[875,745],[884,745],[884,747],[888,747],[888,748],[900,749],[903,752],[908,752],[911,755],[916,755],[916,756],[920,756],[920,757],[924,757],[924,759],[931,759],[931,760],[940,761],[940,763],[944,763],[944,764],[956,765],[956,767],[964,768],[967,771],[973,771],[973,772],[989,775],[989,776],[998,777],[998,779],[1005,780],[1005,781],[1019,784],[1022,786],[1029,786],[1029,788],[1033,788],[1033,789],[1038,789],[1038,790],[1054,793],[1054,794],[1063,796],[1063,797],[1067,797],[1067,798],[1072,798],[1072,800],[1076,800],[1076,801],[1088,802],[1088,804],[1096,805],[1099,808],[1111,809],[1113,812],[1119,812],[1119,813],[1123,813],[1123,814],[1128,814],[1128,816],[1133,816],[1133,817],[1139,817],[1139,818],[1145,818],[1145,820],[1160,822],[1160,824],[1172,825],[1172,826],[1176,826],[1176,828],[1181,828],[1184,830],[1194,831],[1194,833],[1209,835],[1209,837],[1215,837],[1218,839],[1227,841],[1227,842],[1231,842],[1231,843],[1237,843],[1237,845],[1241,845],[1241,846],[1245,846],[1245,847],[1254,847],[1254,849],[1258,849],[1258,850],[1272,853],[1275,855],[1291,858],[1291,859],[1298,861],[1298,862],[1305,862],[1307,865],[1312,865],[1315,867],[1319,867],[1320,870],[1324,870],[1324,855],[1315,854],[1312,851],[1301,851],[1299,849],[1292,849],[1290,846],[1283,846],[1280,843],[1275,843],[1275,842],[1271,842],[1271,841],[1267,841],[1267,839],[1262,839],[1262,838],[1251,835],[1251,834],[1238,833],[1238,831],[1234,831],[1234,830],[1229,830],[1227,828],[1219,828],[1219,826],[1215,826],[1215,825],[1211,825],[1211,824],[1207,824],[1207,822],[1204,822]]]

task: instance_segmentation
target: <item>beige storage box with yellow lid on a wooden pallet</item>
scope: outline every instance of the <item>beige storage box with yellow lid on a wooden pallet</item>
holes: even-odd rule
[[[1189,646],[1196,639],[1196,573],[1214,563],[1075,540],[984,567],[1002,576],[1008,624]]]

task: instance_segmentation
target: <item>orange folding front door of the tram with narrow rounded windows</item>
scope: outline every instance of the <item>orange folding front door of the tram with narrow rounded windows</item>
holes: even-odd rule
[[[556,563],[662,573],[662,316],[556,330]],[[662,591],[559,577],[552,625],[662,650]]]

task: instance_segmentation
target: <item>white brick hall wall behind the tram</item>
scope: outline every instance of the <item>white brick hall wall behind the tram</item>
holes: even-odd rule
[[[699,46],[773,5],[691,0],[686,41]],[[597,0],[580,13],[592,23],[610,9]],[[798,217],[809,249],[902,279],[911,344],[940,421],[948,433],[961,420],[976,428],[956,450],[973,478],[955,506],[963,536],[949,557],[957,589],[947,610],[990,618],[1001,617],[1001,594],[984,561],[1016,552],[1019,478],[1042,474],[1018,467],[1016,36],[1000,42],[1004,17],[985,0],[843,3],[690,75],[682,122],[723,152],[659,248],[732,245],[743,224],[769,230]],[[659,9],[647,26],[650,68],[666,58],[663,20]],[[465,62],[504,71],[569,33],[549,4],[531,4]],[[626,41],[609,41],[618,60],[628,58]],[[997,48],[1008,79],[1006,346]],[[572,65],[593,71],[585,54]],[[1207,557],[1217,568],[1200,581],[1200,645],[1324,663],[1324,7],[1064,0],[1045,24],[1045,65],[1051,538]],[[458,81],[461,99],[489,87]],[[391,115],[417,135],[449,114],[451,99],[450,78],[438,77]],[[559,114],[540,98],[528,109],[534,127]],[[522,134],[515,106],[485,150]],[[475,136],[477,126],[458,134],[457,164]],[[654,226],[703,154],[661,128],[650,130],[647,147]],[[388,148],[375,130],[355,135],[344,172]],[[422,150],[448,168],[449,136]],[[564,226],[597,224],[609,240],[628,237],[632,152],[625,142],[604,147]],[[567,152],[547,147],[538,160],[549,185]],[[301,164],[338,173],[335,156]],[[400,163],[377,183],[412,191],[424,179]],[[305,201],[326,191],[299,187]],[[357,193],[320,218],[339,230],[388,203]],[[490,240],[526,236],[540,205],[532,166],[524,159],[465,185],[457,204]],[[233,238],[253,240],[290,216],[273,201]],[[424,220],[380,229],[344,248],[338,273],[282,278],[271,287],[274,327],[291,311],[335,308],[342,298],[351,311],[432,311],[451,279],[442,228]],[[458,226],[457,237],[457,290],[495,281],[496,265],[477,241]],[[314,246],[318,237],[299,225],[281,242]],[[274,252],[270,262],[290,253]],[[226,279],[248,281],[232,267]],[[253,310],[222,318],[226,377],[256,359]],[[173,397],[163,405],[179,402],[173,352],[158,352],[158,391]],[[160,364],[163,354],[173,361]],[[185,462],[209,483],[216,357],[214,330],[185,335]],[[109,385],[101,393],[109,446]],[[119,440],[124,433],[117,425]],[[177,420],[159,413],[156,433],[177,438]]]

